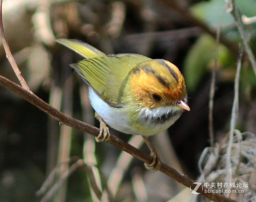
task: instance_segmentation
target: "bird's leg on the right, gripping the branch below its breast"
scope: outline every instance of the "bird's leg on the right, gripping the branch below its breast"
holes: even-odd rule
[[[150,156],[153,157],[153,161],[150,164],[144,163],[144,166],[148,169],[148,170],[152,170],[152,172],[156,172],[157,170],[160,169],[161,167],[161,161],[160,161],[160,157],[157,154],[155,148],[151,145],[151,143],[149,142],[148,138],[144,135],[142,135],[142,138],[145,140],[146,144],[148,145],[148,148],[150,149]],[[153,168],[153,169],[152,169]]]

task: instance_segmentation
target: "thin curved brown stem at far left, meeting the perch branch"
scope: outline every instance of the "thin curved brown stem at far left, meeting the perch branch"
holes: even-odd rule
[[[2,16],[3,16],[2,15],[2,0],[0,0],[0,34],[1,34],[2,42],[3,42],[4,50],[6,53],[6,57],[9,60],[9,63],[11,64],[12,69],[15,72],[16,76],[18,77],[21,86],[24,89],[26,89],[27,91],[30,91],[28,84],[26,83],[25,79],[22,77],[21,71],[19,70],[19,67],[16,64],[16,62],[12,56],[10,47],[9,47],[6,37],[4,35],[4,26],[3,26],[3,17]]]

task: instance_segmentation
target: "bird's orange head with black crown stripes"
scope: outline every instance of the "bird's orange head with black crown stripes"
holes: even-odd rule
[[[179,69],[162,59],[144,62],[134,70],[131,75],[131,93],[140,106],[148,109],[175,106],[187,96]]]

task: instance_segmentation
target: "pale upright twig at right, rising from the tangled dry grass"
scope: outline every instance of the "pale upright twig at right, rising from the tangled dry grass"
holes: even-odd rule
[[[234,136],[236,118],[238,113],[239,78],[240,78],[242,56],[243,56],[243,49],[241,48],[240,54],[238,57],[237,68],[236,68],[236,78],[235,78],[235,87],[234,87],[235,96],[234,96],[231,120],[230,120],[230,135],[229,135],[229,142],[228,142],[228,148],[227,148],[227,161],[226,161],[226,167],[227,167],[226,182],[232,181],[231,149],[233,144],[233,136]]]

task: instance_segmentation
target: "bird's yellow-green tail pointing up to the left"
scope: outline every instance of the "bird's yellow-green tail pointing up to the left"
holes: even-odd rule
[[[76,53],[83,56],[84,58],[106,56],[105,53],[94,48],[88,43],[84,43],[83,41],[79,41],[76,39],[56,39],[56,41],[66,46],[67,48],[75,51]]]

